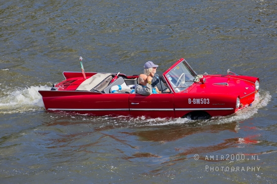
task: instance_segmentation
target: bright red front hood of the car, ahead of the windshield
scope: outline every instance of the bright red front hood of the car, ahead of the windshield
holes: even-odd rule
[[[238,95],[243,98],[255,92],[255,81],[257,78],[248,76],[204,76],[206,82],[194,83],[185,92],[188,93],[224,93],[230,95]]]

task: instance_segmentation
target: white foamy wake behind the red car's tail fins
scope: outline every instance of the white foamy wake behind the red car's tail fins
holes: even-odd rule
[[[48,86],[0,89],[0,113],[22,113],[44,107],[38,90],[50,90]]]

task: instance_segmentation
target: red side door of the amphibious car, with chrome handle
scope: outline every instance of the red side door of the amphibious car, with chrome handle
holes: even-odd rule
[[[133,116],[175,117],[173,94],[129,95],[129,110]]]

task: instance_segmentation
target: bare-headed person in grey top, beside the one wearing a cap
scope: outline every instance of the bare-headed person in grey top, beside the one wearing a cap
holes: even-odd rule
[[[157,88],[155,87],[154,89],[151,86],[151,80],[152,77],[145,75],[145,74],[141,74],[140,76],[138,76],[137,82],[138,84],[135,86],[134,88],[134,92],[137,94],[141,94],[141,95],[145,95],[145,96],[149,96],[152,93],[155,94],[158,92]]]

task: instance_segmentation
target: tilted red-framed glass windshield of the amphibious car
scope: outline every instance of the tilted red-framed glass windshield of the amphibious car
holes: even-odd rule
[[[194,83],[197,74],[191,69],[189,64],[179,63],[170,72],[166,78],[170,81],[175,92],[182,91]]]

